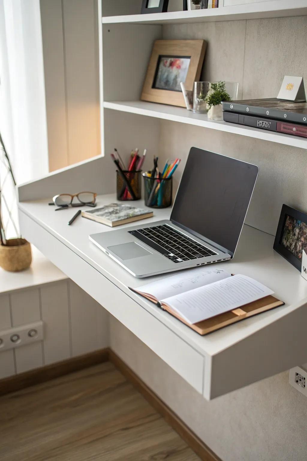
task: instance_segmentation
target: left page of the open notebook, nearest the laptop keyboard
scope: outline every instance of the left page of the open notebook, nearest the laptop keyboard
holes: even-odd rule
[[[158,301],[170,296],[180,295],[185,291],[194,290],[207,284],[212,284],[226,277],[231,277],[229,272],[222,269],[203,269],[197,267],[188,271],[181,271],[171,277],[165,277],[151,284],[142,285],[135,290],[142,293],[148,293]]]

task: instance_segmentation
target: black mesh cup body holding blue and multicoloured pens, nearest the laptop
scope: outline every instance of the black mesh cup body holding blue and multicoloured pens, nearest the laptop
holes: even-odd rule
[[[145,205],[151,208],[167,208],[172,205],[173,178],[151,178],[143,173]]]

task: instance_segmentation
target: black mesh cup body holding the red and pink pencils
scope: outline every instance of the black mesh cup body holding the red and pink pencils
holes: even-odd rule
[[[117,200],[139,200],[141,198],[141,173],[142,170],[116,170]]]

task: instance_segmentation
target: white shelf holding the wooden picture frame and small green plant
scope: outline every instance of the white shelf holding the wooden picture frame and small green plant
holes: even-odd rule
[[[161,118],[173,122],[180,122],[189,125],[202,126],[212,130],[226,131],[251,138],[263,139],[265,141],[278,142],[287,146],[307,149],[307,140],[304,138],[284,135],[274,131],[260,130],[248,126],[232,124],[224,121],[209,120],[207,115],[194,114],[183,107],[166,106],[145,101],[104,101],[105,109],[113,109],[121,112],[146,115],[147,117]]]

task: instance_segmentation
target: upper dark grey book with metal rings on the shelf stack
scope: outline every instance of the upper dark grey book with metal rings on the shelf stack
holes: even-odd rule
[[[223,110],[227,112],[275,118],[284,122],[307,125],[307,102],[285,102],[276,98],[246,99],[224,101],[222,106]]]

